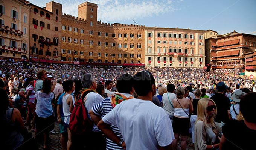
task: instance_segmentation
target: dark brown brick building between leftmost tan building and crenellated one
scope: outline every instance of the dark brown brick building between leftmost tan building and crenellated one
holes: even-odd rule
[[[29,3],[30,9],[30,57],[60,60],[62,5],[54,1],[46,7]]]

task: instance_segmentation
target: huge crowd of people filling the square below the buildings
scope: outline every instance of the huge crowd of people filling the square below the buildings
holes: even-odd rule
[[[239,69],[1,64],[9,149],[26,147],[24,132],[35,132],[49,149],[55,122],[68,150],[175,150],[178,142],[185,150],[190,133],[189,146],[196,150],[249,149],[256,137],[255,80],[236,77]],[[91,124],[86,134],[72,128],[79,99]]]

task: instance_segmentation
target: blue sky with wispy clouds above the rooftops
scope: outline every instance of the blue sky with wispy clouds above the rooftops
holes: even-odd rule
[[[40,7],[51,0],[28,0]],[[57,0],[62,12],[78,17],[86,0]],[[98,5],[98,21],[147,27],[233,30],[256,35],[256,0],[87,0]],[[134,23],[135,22],[135,23]]]

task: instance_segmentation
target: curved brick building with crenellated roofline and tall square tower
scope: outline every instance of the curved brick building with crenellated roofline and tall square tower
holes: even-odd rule
[[[78,17],[62,15],[61,60],[143,63],[143,26],[101,23],[97,7],[85,2]]]

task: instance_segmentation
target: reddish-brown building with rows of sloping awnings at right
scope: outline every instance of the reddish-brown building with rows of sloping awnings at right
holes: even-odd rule
[[[206,39],[207,55],[213,68],[242,68],[245,64],[243,55],[255,49],[256,36],[233,31]]]

